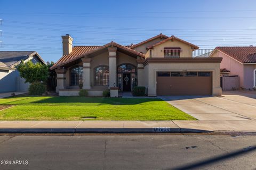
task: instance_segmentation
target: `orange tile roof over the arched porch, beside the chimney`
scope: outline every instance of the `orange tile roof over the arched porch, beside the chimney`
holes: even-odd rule
[[[138,55],[138,56],[141,56],[141,57],[145,57],[144,54],[139,53],[134,49],[131,49],[127,46],[123,46],[123,45],[120,45],[120,44],[117,44],[117,43],[111,41],[110,43],[108,43],[106,45],[103,45],[103,46],[74,46],[72,48],[72,52],[70,54],[63,55],[60,58],[60,60],[57,63],[55,63],[50,69],[51,70],[56,69],[58,66],[61,66],[63,64],[67,64],[71,61],[77,60],[79,58],[84,57],[85,55],[92,54],[94,52],[97,52],[97,51],[99,51],[101,49],[104,49],[104,48],[107,48],[109,46],[115,46],[115,47],[121,48],[121,49],[123,49],[127,52],[130,52],[131,54],[135,54],[135,55]]]

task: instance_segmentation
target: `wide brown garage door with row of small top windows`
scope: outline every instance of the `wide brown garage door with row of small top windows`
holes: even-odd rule
[[[157,77],[157,95],[211,95],[212,77]]]

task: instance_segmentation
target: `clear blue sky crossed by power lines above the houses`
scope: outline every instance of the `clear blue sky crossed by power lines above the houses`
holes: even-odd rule
[[[158,4],[156,3],[158,2]],[[0,50],[62,55],[61,35],[74,45],[129,45],[158,35],[200,48],[256,45],[256,1],[0,1]]]

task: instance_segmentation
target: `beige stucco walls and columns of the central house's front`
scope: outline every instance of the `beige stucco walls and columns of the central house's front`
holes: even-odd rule
[[[57,73],[57,92],[60,96],[78,95],[78,86],[71,85],[70,71],[76,66],[83,67],[83,89],[89,91],[90,96],[101,96],[104,90],[118,87],[119,91],[132,91],[134,86],[146,87],[148,96],[157,96],[157,72],[211,72],[212,92],[214,96],[221,95],[220,88],[220,60],[212,58],[192,57],[193,46],[177,39],[165,40],[154,46],[154,50],[161,50],[165,47],[180,48],[181,53],[178,58],[165,58],[162,56],[149,57],[147,47],[153,46],[166,38],[158,37],[146,43],[142,43],[134,48],[127,48],[121,45],[110,43],[102,46],[99,50],[86,53],[77,57],[76,60],[66,62],[59,67],[55,67]],[[190,49],[189,53],[182,53],[183,50]],[[142,54],[144,53],[144,54]],[[146,55],[145,55],[146,54]],[[155,58],[155,59],[154,59]],[[150,59],[154,59],[150,60]],[[150,60],[150,61],[149,61]],[[120,72],[118,67],[129,65],[133,67],[133,72]],[[95,68],[106,66],[109,70],[108,85],[98,86],[95,84]],[[135,71],[134,71],[135,70]],[[126,89],[124,88],[126,86]],[[127,87],[131,88],[127,88]],[[116,90],[111,96],[117,96]]]

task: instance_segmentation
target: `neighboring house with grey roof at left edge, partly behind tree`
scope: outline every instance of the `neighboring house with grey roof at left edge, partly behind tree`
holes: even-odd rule
[[[37,52],[0,52],[0,92],[28,91],[29,83],[25,83],[25,79],[20,77],[19,71],[16,69],[22,60],[45,64]]]

